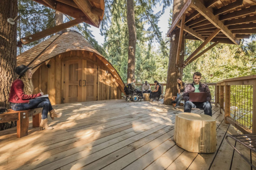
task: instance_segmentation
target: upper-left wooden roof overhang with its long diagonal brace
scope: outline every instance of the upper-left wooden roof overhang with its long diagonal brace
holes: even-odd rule
[[[72,21],[60,24],[53,28],[29,35],[21,39],[22,44],[27,44],[61,30],[85,22],[99,28],[103,19],[105,5],[104,0],[33,0],[63,14],[75,18]],[[19,43],[20,44],[20,43]]]

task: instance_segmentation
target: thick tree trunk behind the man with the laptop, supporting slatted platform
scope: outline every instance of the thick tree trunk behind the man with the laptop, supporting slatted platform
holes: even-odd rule
[[[174,0],[173,1],[173,17],[172,21],[176,18],[179,13],[179,10],[183,7],[186,0]],[[164,104],[171,105],[172,97],[176,96],[178,93],[177,90],[177,78],[182,78],[183,74],[183,62],[184,62],[184,47],[185,47],[185,36],[183,35],[183,40],[181,43],[181,51],[183,51],[182,55],[179,58],[179,64],[176,66],[176,58],[177,58],[177,50],[178,50],[178,41],[180,29],[174,29],[172,35],[176,35],[175,40],[171,40],[170,43],[170,54],[169,54],[169,65],[168,65],[168,73],[166,80],[166,90],[164,96]]]

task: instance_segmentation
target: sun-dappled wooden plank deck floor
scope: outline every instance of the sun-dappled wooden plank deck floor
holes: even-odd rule
[[[213,117],[217,125],[217,151],[212,154],[187,152],[173,142],[175,114],[183,108],[175,110],[161,102],[125,99],[54,107],[63,116],[49,120],[53,130],[32,128],[30,120],[29,135],[23,138],[16,138],[16,128],[0,131],[0,169],[225,170],[230,167],[233,149],[224,137],[236,134],[237,130],[225,124],[224,115],[216,107]],[[253,154],[254,162],[255,157]],[[232,169],[245,170],[250,166],[235,152]]]

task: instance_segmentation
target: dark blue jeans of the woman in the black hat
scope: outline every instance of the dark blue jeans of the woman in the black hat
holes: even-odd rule
[[[15,111],[43,108],[42,119],[47,119],[48,112],[53,110],[50,100],[45,98],[30,99],[29,103],[15,103],[11,108]]]

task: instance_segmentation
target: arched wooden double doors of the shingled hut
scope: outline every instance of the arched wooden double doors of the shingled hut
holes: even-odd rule
[[[97,65],[75,59],[64,62],[64,103],[97,100]]]

